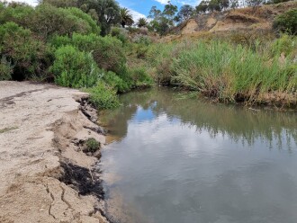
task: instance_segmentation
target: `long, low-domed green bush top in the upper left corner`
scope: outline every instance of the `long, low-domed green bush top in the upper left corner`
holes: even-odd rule
[[[50,35],[78,33],[100,33],[92,17],[77,8],[57,8],[51,4],[40,4],[35,9],[26,4],[4,6],[0,22],[15,22],[44,39]]]

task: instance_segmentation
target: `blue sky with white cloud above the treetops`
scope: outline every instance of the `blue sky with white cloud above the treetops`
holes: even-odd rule
[[[3,1],[3,0],[0,0]],[[8,0],[12,2],[13,0]],[[16,2],[25,2],[31,5],[36,5],[37,0],[14,0]],[[63,1],[63,0],[61,0]],[[132,13],[134,20],[138,20],[140,17],[147,17],[148,12],[152,6],[157,6],[158,9],[163,10],[164,5],[168,0],[117,0],[121,7],[126,7]],[[193,6],[199,4],[200,0],[171,0],[172,4],[178,7],[183,4],[191,4]]]

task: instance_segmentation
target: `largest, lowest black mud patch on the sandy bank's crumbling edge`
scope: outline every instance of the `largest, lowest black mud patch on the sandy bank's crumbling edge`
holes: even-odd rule
[[[94,195],[98,200],[104,199],[103,182],[97,171],[71,163],[60,163],[63,171],[59,181],[74,188],[79,195]]]

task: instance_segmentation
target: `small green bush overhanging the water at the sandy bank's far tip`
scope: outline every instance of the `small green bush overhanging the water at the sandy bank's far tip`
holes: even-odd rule
[[[86,92],[90,94],[90,102],[99,110],[113,109],[120,105],[116,92],[103,82],[86,89]]]

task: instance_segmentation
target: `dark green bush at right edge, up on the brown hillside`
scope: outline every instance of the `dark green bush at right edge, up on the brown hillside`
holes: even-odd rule
[[[297,9],[289,10],[275,18],[273,27],[276,31],[297,35]]]

